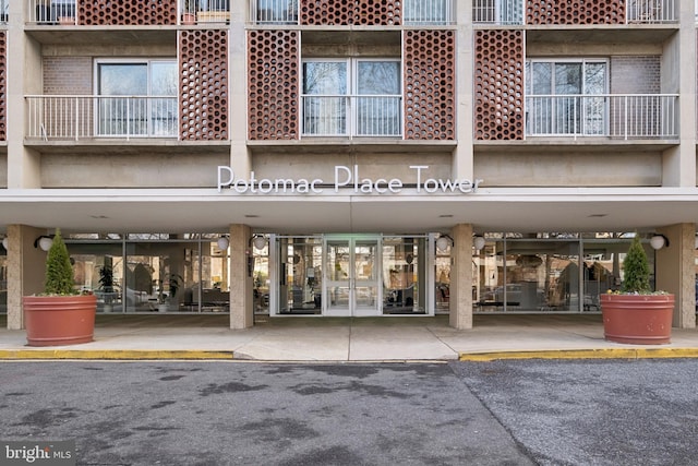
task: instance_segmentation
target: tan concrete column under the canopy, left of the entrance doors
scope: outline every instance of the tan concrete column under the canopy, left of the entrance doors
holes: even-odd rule
[[[252,274],[248,262],[252,259],[251,236],[246,225],[230,226],[230,328],[236,330],[254,325]]]

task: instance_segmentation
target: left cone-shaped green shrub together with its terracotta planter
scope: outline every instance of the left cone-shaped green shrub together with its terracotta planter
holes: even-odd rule
[[[23,299],[24,323],[29,346],[74,345],[92,342],[97,297],[75,290],[68,248],[56,230],[46,258],[44,292]]]

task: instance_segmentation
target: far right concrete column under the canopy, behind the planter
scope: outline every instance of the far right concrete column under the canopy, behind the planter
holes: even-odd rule
[[[678,224],[659,230],[669,239],[669,247],[657,251],[657,289],[675,296],[673,326],[696,327],[696,227]]]

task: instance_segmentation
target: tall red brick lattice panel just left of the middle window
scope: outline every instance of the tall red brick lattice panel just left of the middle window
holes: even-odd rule
[[[297,140],[300,36],[297,31],[248,33],[251,140]]]

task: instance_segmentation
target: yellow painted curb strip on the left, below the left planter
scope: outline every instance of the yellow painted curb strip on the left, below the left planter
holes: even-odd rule
[[[109,360],[145,360],[145,359],[233,359],[232,351],[203,350],[94,350],[94,349],[5,349],[0,350],[0,359],[39,360],[39,359],[109,359]]]

